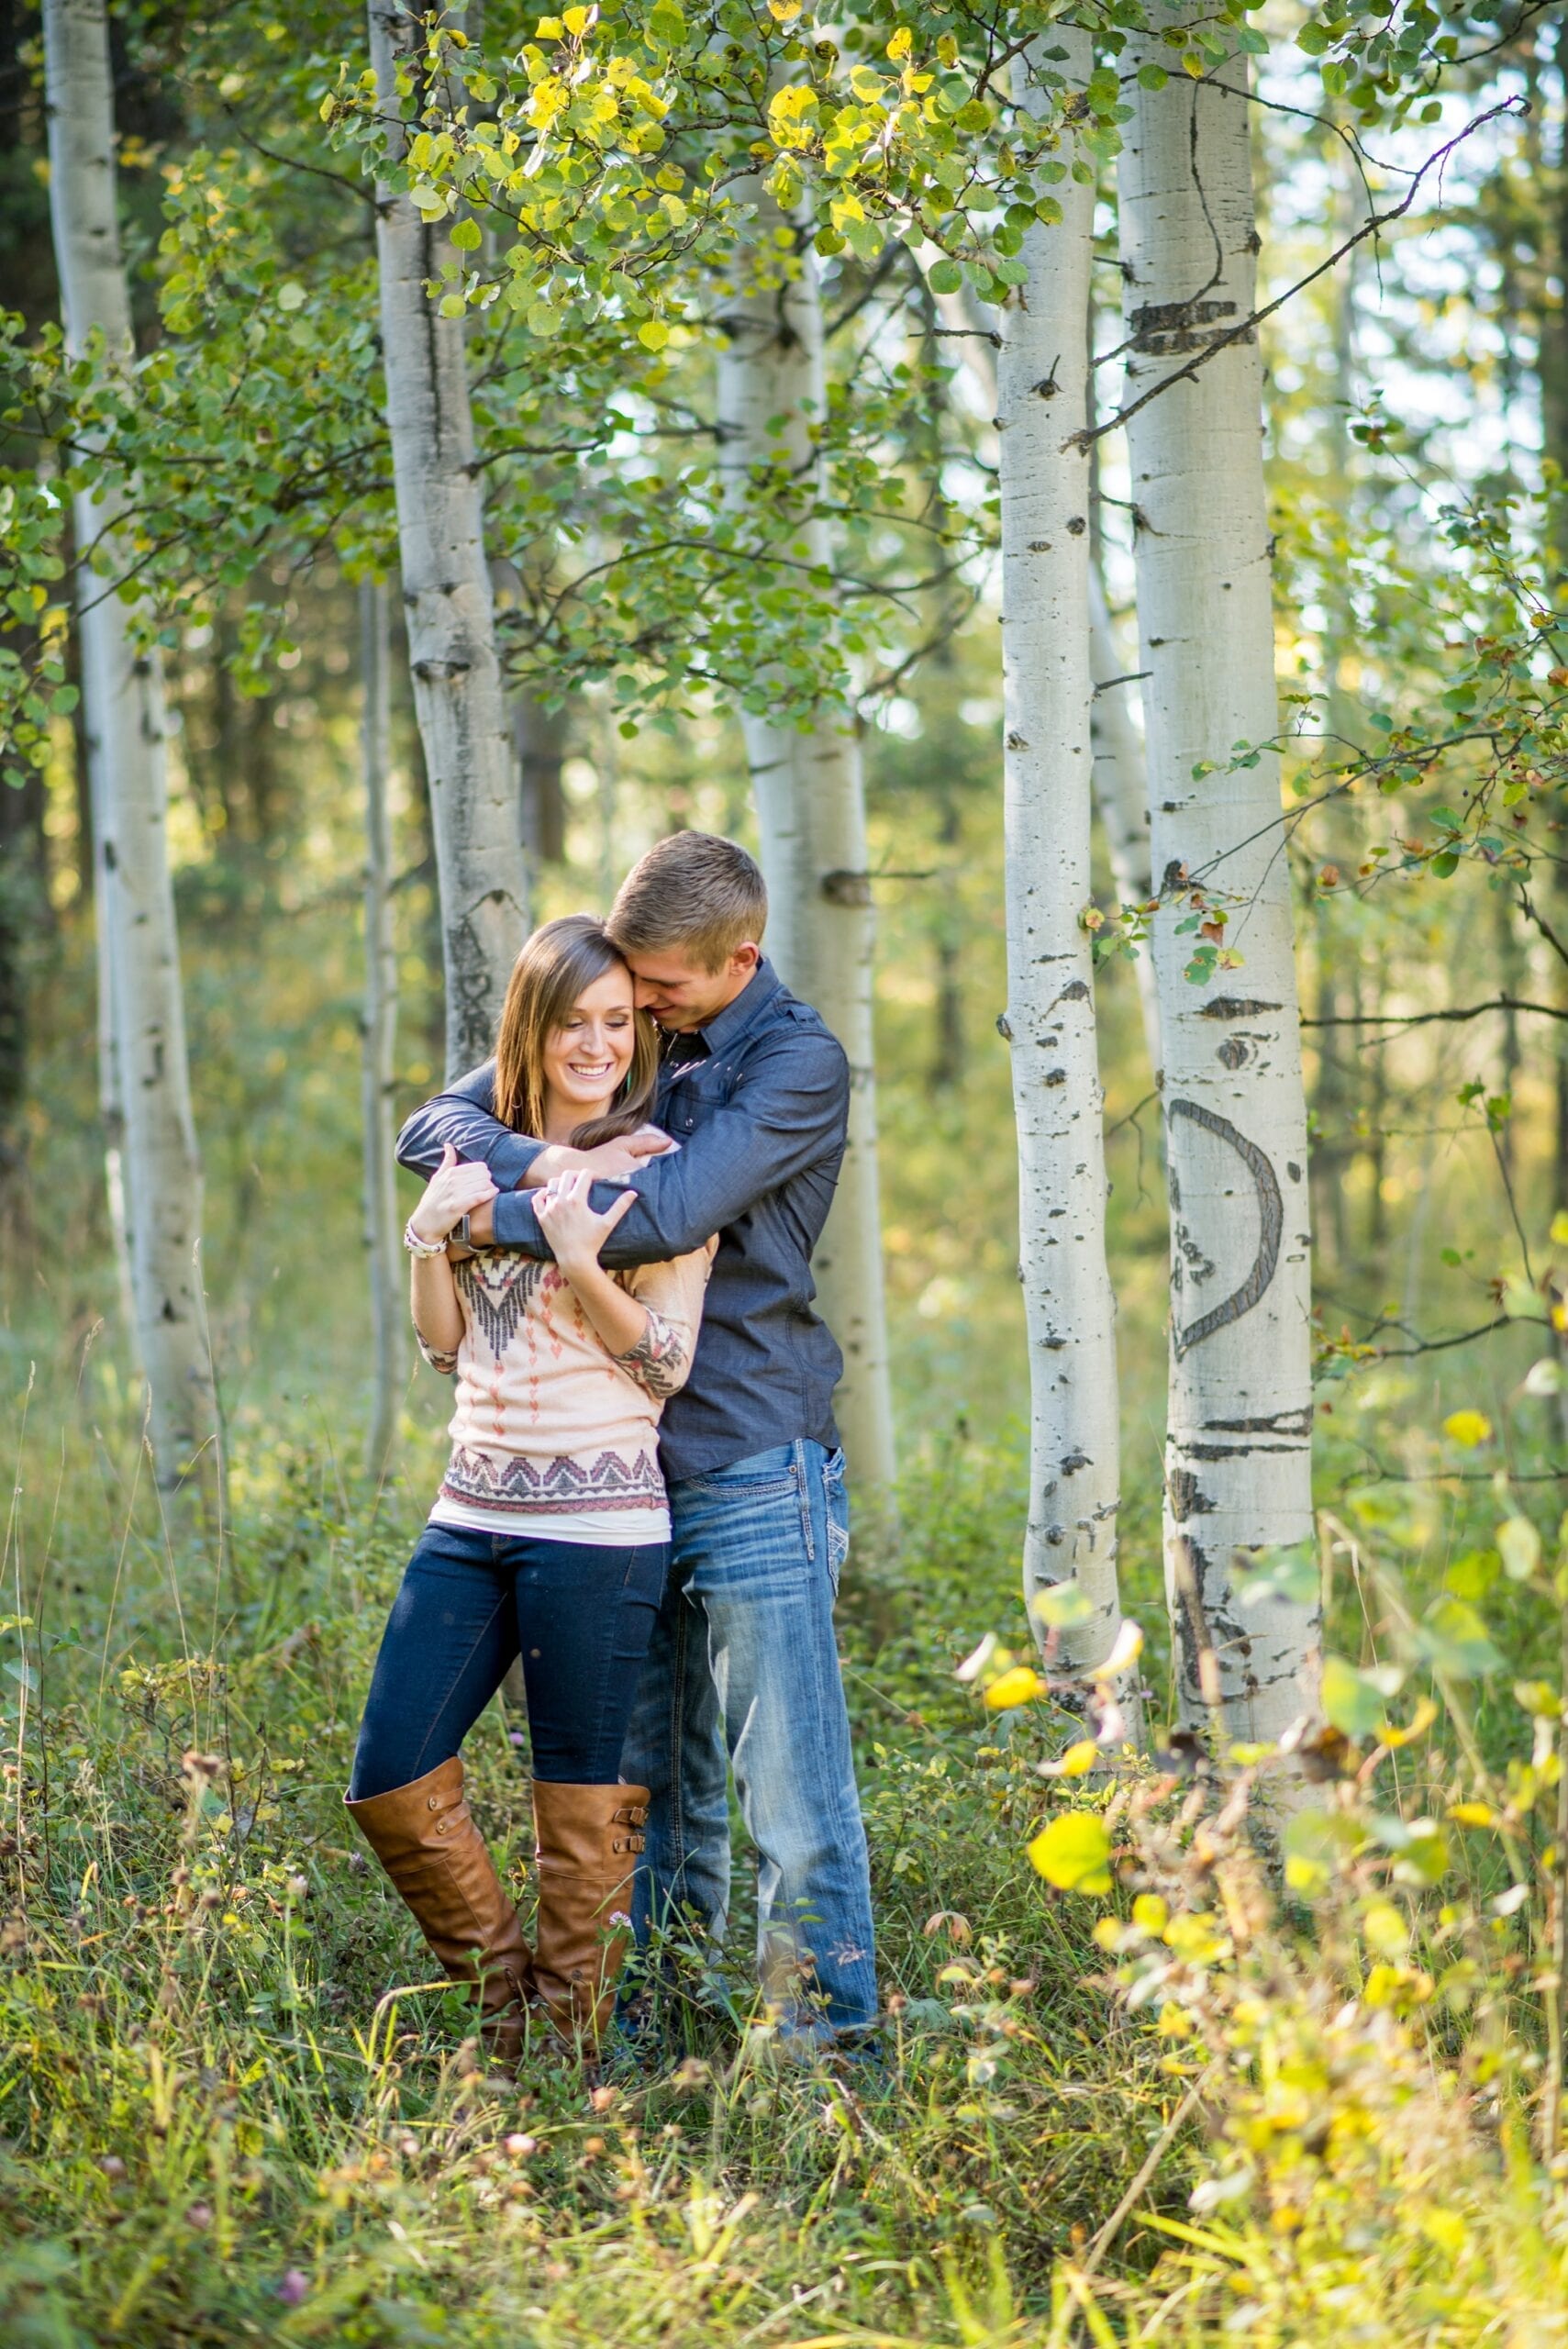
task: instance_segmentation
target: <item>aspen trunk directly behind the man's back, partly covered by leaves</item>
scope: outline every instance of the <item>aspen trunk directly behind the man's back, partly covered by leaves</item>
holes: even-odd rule
[[[761,482],[770,500],[798,500],[791,540],[831,566],[817,435],[826,416],[822,296],[810,247],[793,277],[775,235],[789,223],[761,183],[744,190],[756,221],[725,291],[718,357],[721,463],[744,507]],[[742,714],[746,766],[768,876],[768,951],[782,977],[822,1012],[850,1055],[850,1146],[815,1254],[822,1313],[843,1346],[838,1419],[854,1478],[894,1478],[887,1308],[876,1167],[873,951],[866,871],[866,796],[852,721],[824,712],[810,733]]]

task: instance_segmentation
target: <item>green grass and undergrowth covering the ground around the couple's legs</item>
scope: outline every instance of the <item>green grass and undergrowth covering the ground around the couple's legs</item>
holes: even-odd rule
[[[7,2349],[1568,2340],[1545,1508],[1530,1574],[1495,1548],[1523,1503],[1462,1482],[1336,1494],[1279,1564],[1343,1665],[1303,1828],[1270,1755],[1162,1764],[1136,1515],[1155,1762],[1040,1776],[1082,1722],[953,1677],[1026,1649],[1021,1452],[927,1445],[840,1607],[878,2058],[798,2067],[756,2015],[742,1858],[730,1950],[660,1950],[596,2077],[533,2046],[500,2081],[340,1804],[432,1433],[373,1492],[307,1414],[249,1426],[216,1571],[113,1391],[61,1407],[0,1600]],[[526,1907],[500,1708],[469,1766]],[[1028,1863],[1066,1816],[1073,1891]]]

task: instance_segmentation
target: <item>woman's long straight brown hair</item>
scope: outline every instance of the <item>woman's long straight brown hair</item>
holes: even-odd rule
[[[533,933],[507,982],[495,1036],[495,1116],[519,1135],[545,1132],[545,1045],[606,970],[624,970],[594,914],[563,914]],[[660,1045],[648,1012],[634,1015],[631,1066],[615,1104],[573,1135],[580,1151],[648,1123],[660,1073]]]

